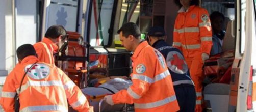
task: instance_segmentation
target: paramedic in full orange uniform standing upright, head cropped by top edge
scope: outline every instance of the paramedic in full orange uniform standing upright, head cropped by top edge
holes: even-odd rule
[[[175,20],[173,46],[180,49],[195,83],[196,111],[202,111],[202,67],[209,59],[212,47],[212,28],[206,9],[198,7],[198,0],[174,0],[180,6]]]

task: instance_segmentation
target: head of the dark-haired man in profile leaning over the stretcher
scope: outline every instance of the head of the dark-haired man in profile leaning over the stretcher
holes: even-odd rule
[[[134,51],[137,45],[139,45],[141,42],[140,29],[133,22],[123,24],[117,33],[119,34],[122,46],[124,46],[129,51]]]

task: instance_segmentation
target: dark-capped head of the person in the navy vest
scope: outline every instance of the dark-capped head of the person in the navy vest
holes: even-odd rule
[[[147,33],[147,42],[150,45],[153,45],[158,40],[165,40],[165,31],[163,27],[160,26],[153,26],[149,29]]]

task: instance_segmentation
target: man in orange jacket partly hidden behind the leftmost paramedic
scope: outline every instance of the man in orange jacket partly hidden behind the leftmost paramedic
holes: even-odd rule
[[[62,25],[50,26],[41,42],[35,43],[33,46],[39,61],[48,64],[54,64],[54,53],[58,51],[58,43],[66,37],[66,30]]]

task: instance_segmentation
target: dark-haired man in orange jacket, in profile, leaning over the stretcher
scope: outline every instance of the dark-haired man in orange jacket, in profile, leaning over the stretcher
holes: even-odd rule
[[[105,96],[110,104],[134,103],[135,111],[178,111],[172,79],[162,54],[140,39],[140,29],[132,22],[118,31],[122,45],[133,51],[133,85]]]

